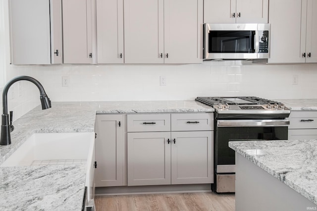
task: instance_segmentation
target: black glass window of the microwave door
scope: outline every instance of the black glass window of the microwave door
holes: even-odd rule
[[[209,53],[255,53],[255,31],[210,31]]]

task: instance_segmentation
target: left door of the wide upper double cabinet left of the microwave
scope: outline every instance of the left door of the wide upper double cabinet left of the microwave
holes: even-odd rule
[[[163,3],[124,0],[125,63],[164,62]]]

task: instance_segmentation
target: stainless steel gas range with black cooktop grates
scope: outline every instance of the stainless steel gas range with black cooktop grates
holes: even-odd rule
[[[214,173],[212,189],[235,192],[235,152],[229,141],[286,140],[290,110],[280,102],[259,97],[197,97],[212,106],[214,115]]]

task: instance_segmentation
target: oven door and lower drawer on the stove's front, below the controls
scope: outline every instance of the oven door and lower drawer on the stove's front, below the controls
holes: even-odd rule
[[[286,140],[288,120],[216,120],[215,191],[235,192],[235,151],[229,141]]]

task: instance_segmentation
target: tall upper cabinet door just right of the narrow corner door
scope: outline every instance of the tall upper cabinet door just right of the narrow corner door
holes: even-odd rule
[[[92,63],[92,2],[63,0],[64,63]]]

